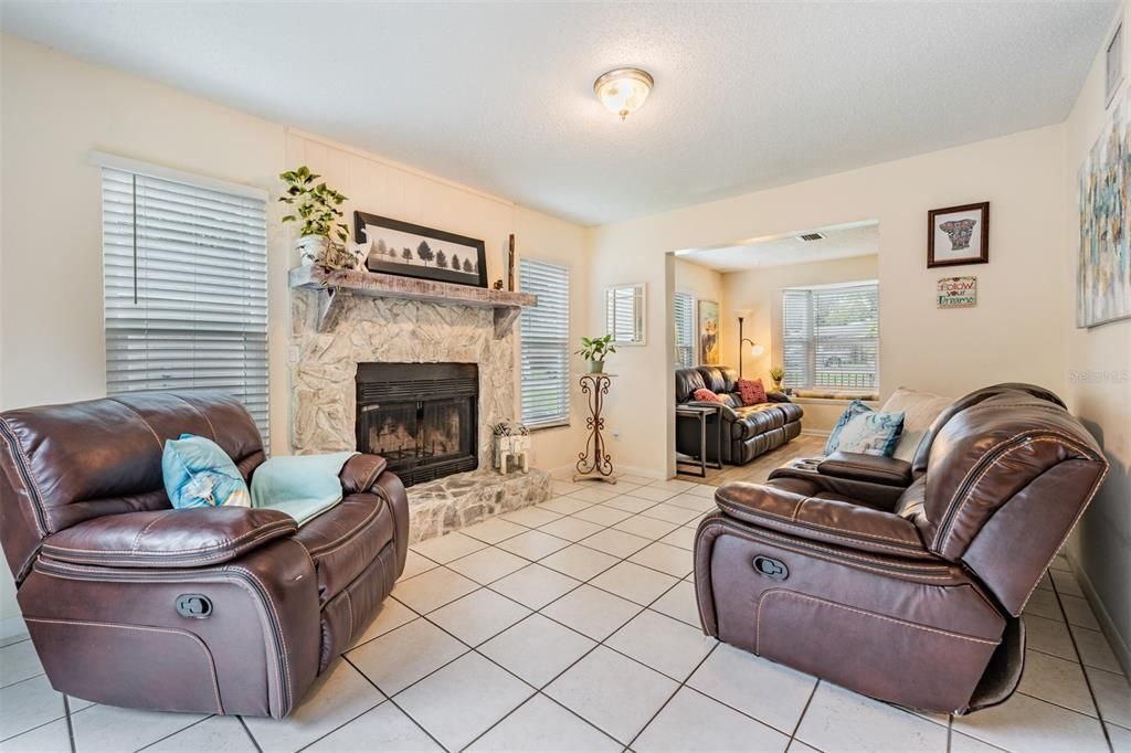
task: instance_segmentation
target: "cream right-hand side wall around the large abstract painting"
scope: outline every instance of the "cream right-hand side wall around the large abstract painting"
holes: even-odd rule
[[[1131,78],[1131,6],[1122,10],[1124,81]],[[1114,27],[1114,23],[1113,23]],[[1131,94],[1124,83],[1113,105]],[[1096,62],[1065,123],[1064,213],[1062,276],[1072,284],[1079,249],[1078,170],[1111,111],[1104,93],[1104,55]],[[1071,295],[1070,295],[1071,298]],[[1074,298],[1072,298],[1074,300]],[[1104,448],[1111,474],[1072,538],[1070,556],[1082,571],[1085,591],[1093,599],[1100,624],[1116,647],[1124,669],[1131,673],[1131,319],[1077,329],[1074,314],[1062,326],[1068,332],[1065,399]]]

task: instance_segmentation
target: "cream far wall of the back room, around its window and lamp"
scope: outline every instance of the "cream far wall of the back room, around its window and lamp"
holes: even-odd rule
[[[800,265],[762,267],[741,272],[723,275],[723,363],[739,365],[737,313],[743,309],[752,311],[743,322],[743,334],[758,343],[766,352],[757,358],[749,353],[743,356],[743,373],[760,378],[767,386],[772,384],[769,370],[783,363],[782,357],[782,288],[804,285],[832,285],[877,279],[880,274],[880,258],[877,254],[849,259],[829,259]],[[883,289],[880,291],[880,308]],[[883,331],[880,332],[881,339]],[[843,403],[798,399],[803,404],[805,417],[802,426],[806,432],[828,432],[844,412]]]

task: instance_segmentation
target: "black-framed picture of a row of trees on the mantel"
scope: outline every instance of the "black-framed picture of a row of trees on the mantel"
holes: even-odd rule
[[[364,211],[354,213],[354,239],[370,271],[487,286],[486,246],[478,239]]]

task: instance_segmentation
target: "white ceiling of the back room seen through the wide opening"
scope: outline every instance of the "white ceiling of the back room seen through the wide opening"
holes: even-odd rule
[[[824,239],[803,242],[794,235],[788,235],[751,241],[743,245],[694,249],[677,253],[683,261],[728,272],[761,267],[800,265],[809,261],[867,257],[880,252],[880,226],[874,222],[853,223],[817,232],[824,235]]]

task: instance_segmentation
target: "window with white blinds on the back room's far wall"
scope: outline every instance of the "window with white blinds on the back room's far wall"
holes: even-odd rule
[[[782,292],[786,387],[875,390],[880,296],[874,282]]]

